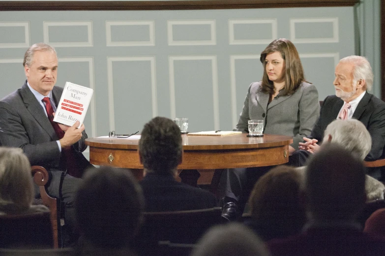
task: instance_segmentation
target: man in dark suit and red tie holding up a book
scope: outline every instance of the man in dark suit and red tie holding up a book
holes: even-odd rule
[[[50,174],[51,196],[65,204],[65,230],[73,234],[74,195],[83,171],[91,166],[81,152],[87,134],[79,121],[72,127],[53,122],[62,88],[56,87],[58,57],[49,45],[32,45],[24,56],[27,81],[22,88],[0,101],[0,145],[22,148],[31,165],[45,167]],[[71,175],[70,175],[71,174]],[[73,241],[68,241],[71,243]]]

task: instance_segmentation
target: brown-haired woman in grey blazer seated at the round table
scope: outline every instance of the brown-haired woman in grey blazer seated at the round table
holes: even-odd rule
[[[264,133],[293,136],[289,153],[298,149],[302,137],[310,135],[319,113],[320,104],[316,87],[307,82],[298,51],[287,39],[277,39],[262,51],[260,58],[264,67],[262,81],[250,85],[242,113],[234,130],[248,132],[248,120],[264,120]],[[255,181],[269,168],[230,169],[222,184],[226,184],[224,203],[237,203],[240,208],[246,202]],[[259,168],[261,169],[261,168]],[[226,210],[223,216],[233,219],[234,208]],[[237,205],[234,204],[234,207]],[[236,214],[234,214],[236,215]]]

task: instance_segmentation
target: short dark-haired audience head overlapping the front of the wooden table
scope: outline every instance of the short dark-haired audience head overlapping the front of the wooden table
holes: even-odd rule
[[[139,156],[148,173],[175,174],[182,161],[180,129],[165,117],[155,117],[142,130]]]

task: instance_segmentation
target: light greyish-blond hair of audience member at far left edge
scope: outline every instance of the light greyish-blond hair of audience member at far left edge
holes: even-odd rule
[[[31,166],[20,148],[0,147],[0,205],[28,209],[34,189]]]

